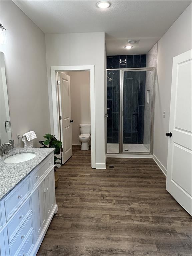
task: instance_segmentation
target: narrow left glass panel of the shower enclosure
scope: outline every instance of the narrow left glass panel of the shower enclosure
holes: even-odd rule
[[[120,70],[107,70],[107,153],[119,153]]]

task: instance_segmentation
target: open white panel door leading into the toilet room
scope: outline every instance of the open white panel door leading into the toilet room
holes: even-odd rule
[[[73,154],[72,152],[72,120],[71,120],[71,95],[70,77],[62,72],[58,72],[60,84],[59,89],[59,111],[60,111],[60,132],[63,145],[61,161],[64,164]]]

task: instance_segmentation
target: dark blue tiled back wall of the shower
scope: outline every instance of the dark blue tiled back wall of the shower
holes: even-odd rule
[[[107,56],[107,68],[146,67],[146,55]],[[123,143],[143,143],[145,71],[124,72]],[[107,71],[107,143],[119,143],[120,71]],[[109,78],[112,78],[109,81]]]

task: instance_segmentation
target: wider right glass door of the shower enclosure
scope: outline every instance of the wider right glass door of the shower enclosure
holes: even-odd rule
[[[153,70],[123,71],[122,152],[149,153]]]

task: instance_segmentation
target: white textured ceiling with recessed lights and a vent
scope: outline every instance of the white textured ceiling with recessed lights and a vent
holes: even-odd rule
[[[14,1],[44,33],[105,32],[107,55],[144,54],[191,1]],[[127,39],[140,39],[127,50]]]

